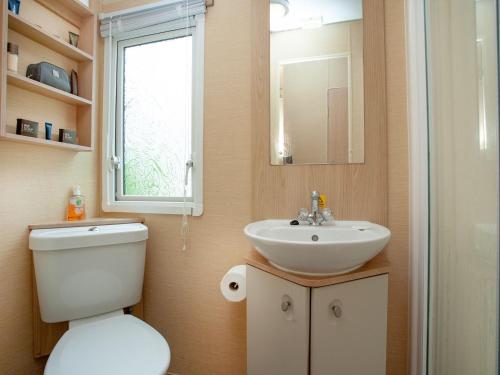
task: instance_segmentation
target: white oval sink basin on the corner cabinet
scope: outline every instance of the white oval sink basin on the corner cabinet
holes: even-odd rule
[[[289,220],[263,220],[245,227],[257,251],[287,272],[327,276],[353,271],[387,245],[391,231],[368,221],[332,225],[290,225]]]

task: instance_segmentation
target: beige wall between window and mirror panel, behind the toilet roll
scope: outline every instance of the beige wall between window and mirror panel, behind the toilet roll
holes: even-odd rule
[[[239,375],[246,368],[245,304],[228,303],[218,288],[249,250],[243,227],[251,221],[250,4],[217,0],[206,16],[205,210],[189,219],[187,251],[180,216],[146,215],[145,319],[170,344],[170,371],[182,375]]]

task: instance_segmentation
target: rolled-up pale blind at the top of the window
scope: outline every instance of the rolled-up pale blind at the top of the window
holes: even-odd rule
[[[101,36],[113,35],[155,26],[165,22],[188,19],[194,23],[194,17],[206,12],[205,0],[165,0],[157,3],[129,8],[123,11],[100,15]]]

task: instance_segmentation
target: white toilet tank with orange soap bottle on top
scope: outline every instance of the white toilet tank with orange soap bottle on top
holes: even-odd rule
[[[101,225],[31,231],[42,320],[86,318],[138,303],[148,228]]]

